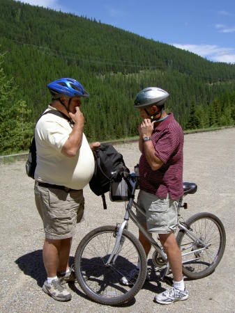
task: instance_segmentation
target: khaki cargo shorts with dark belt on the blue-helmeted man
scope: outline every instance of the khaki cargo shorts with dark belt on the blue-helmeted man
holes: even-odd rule
[[[82,190],[69,193],[57,188],[34,186],[35,202],[43,220],[47,239],[67,239],[73,237],[76,225],[84,216]]]

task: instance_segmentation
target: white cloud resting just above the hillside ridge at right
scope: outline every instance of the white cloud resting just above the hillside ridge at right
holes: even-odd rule
[[[181,45],[173,44],[174,47],[187,50],[208,58],[215,62],[235,63],[235,49],[223,48],[217,45]]]

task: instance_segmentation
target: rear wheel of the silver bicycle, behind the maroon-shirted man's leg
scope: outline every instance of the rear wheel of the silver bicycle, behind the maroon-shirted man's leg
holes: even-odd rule
[[[191,216],[185,224],[208,248],[182,258],[183,262],[188,258],[188,262],[182,264],[183,274],[192,280],[204,278],[215,270],[222,259],[226,245],[225,227],[217,216],[207,212]],[[183,230],[179,231],[176,241],[181,251],[185,249],[184,251],[190,252],[202,248],[201,243],[192,241]],[[197,260],[192,260],[192,256]]]

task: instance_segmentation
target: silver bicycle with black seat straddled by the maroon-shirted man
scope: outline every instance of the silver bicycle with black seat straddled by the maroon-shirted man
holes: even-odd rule
[[[162,268],[160,280],[169,272],[167,255],[163,248],[146,232],[138,222],[132,207],[142,212],[134,201],[139,176],[135,173],[114,173],[114,180],[121,175],[126,189],[122,200],[128,200],[126,214],[121,225],[98,227],[86,234],[75,252],[75,275],[84,293],[97,303],[120,305],[131,300],[142,288],[147,273],[147,260],[142,244],[128,231],[128,220],[137,225],[155,249],[152,256],[154,266]],[[197,184],[183,183],[183,197],[197,191]],[[181,207],[187,208],[179,200],[178,215]],[[194,280],[210,275],[218,266],[225,250],[226,234],[221,220],[211,213],[197,213],[184,221],[180,217],[177,225],[179,232],[176,241],[181,248],[183,274]],[[139,262],[139,275],[131,285],[121,284]]]

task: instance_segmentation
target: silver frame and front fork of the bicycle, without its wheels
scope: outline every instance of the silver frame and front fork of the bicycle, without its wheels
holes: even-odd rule
[[[126,214],[124,216],[123,223],[121,223],[121,225],[119,226],[119,232],[118,232],[118,234],[116,236],[116,242],[115,242],[114,248],[113,248],[112,253],[109,256],[109,259],[107,260],[107,263],[105,265],[106,266],[111,266],[111,264],[114,263],[116,258],[119,256],[119,252],[121,251],[122,244],[123,244],[123,242],[122,242],[122,233],[123,233],[124,228],[128,228],[128,220],[130,218],[133,221],[133,223],[135,223],[135,225],[138,227],[138,229],[144,234],[144,236],[146,236],[146,238],[149,239],[149,242],[151,243],[151,246],[153,246],[153,248],[155,248],[157,250],[157,252],[160,255],[160,257],[162,257],[162,259],[166,262],[167,267],[165,268],[165,271],[164,271],[163,275],[161,275],[161,278],[164,278],[164,276],[169,271],[169,262],[167,262],[167,254],[158,245],[158,243],[153,239],[151,234],[149,234],[149,232],[147,232],[146,229],[139,223],[139,220],[137,219],[137,216],[132,211],[132,207],[135,207],[135,209],[137,209],[144,216],[146,216],[145,211],[141,207],[139,207],[137,202],[134,201],[135,190],[136,190],[137,184],[138,184],[137,176],[135,176],[134,173],[132,173],[131,175],[130,174],[128,174],[128,175],[129,175],[130,179],[128,179],[127,177],[125,177],[123,175],[123,178],[126,180],[126,183],[128,184],[128,188],[131,189],[128,205],[127,205],[127,208],[126,208]],[[183,205],[181,205],[182,199],[183,199],[183,197],[180,198],[180,200],[179,200],[178,214],[179,214],[180,207],[183,207]],[[183,258],[184,255],[190,255],[190,254],[194,254],[195,255],[195,253],[201,252],[202,250],[206,249],[209,246],[209,245],[206,246],[203,243],[203,241],[198,239],[197,236],[195,236],[195,234],[190,229],[188,229],[183,223],[181,223],[179,220],[178,220],[178,223],[177,223],[177,227],[179,228],[179,230],[183,230],[183,232],[185,232],[190,237],[190,239],[192,239],[192,241],[200,243],[202,245],[202,248],[198,248],[197,250],[193,250],[192,252],[181,253],[182,258]],[[183,248],[182,251],[183,250],[188,250],[188,247],[187,248]],[[199,258],[198,257],[194,257],[193,259],[187,260],[185,262],[182,261],[182,264],[190,262],[190,261],[194,261],[194,260],[197,260],[197,259],[199,259]]]

